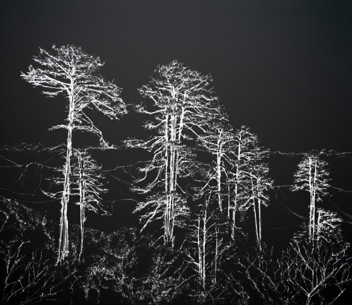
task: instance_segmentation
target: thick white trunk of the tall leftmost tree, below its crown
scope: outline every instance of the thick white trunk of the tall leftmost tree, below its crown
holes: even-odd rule
[[[73,91],[73,90],[71,90]],[[67,220],[67,204],[70,199],[70,158],[72,155],[72,130],[73,130],[73,113],[74,113],[74,100],[73,92],[70,95],[69,116],[68,116],[68,135],[67,135],[67,153],[65,164],[65,178],[64,188],[61,198],[61,218],[60,218],[60,232],[59,232],[59,249],[57,263],[62,262],[69,253],[68,244],[68,220]]]

